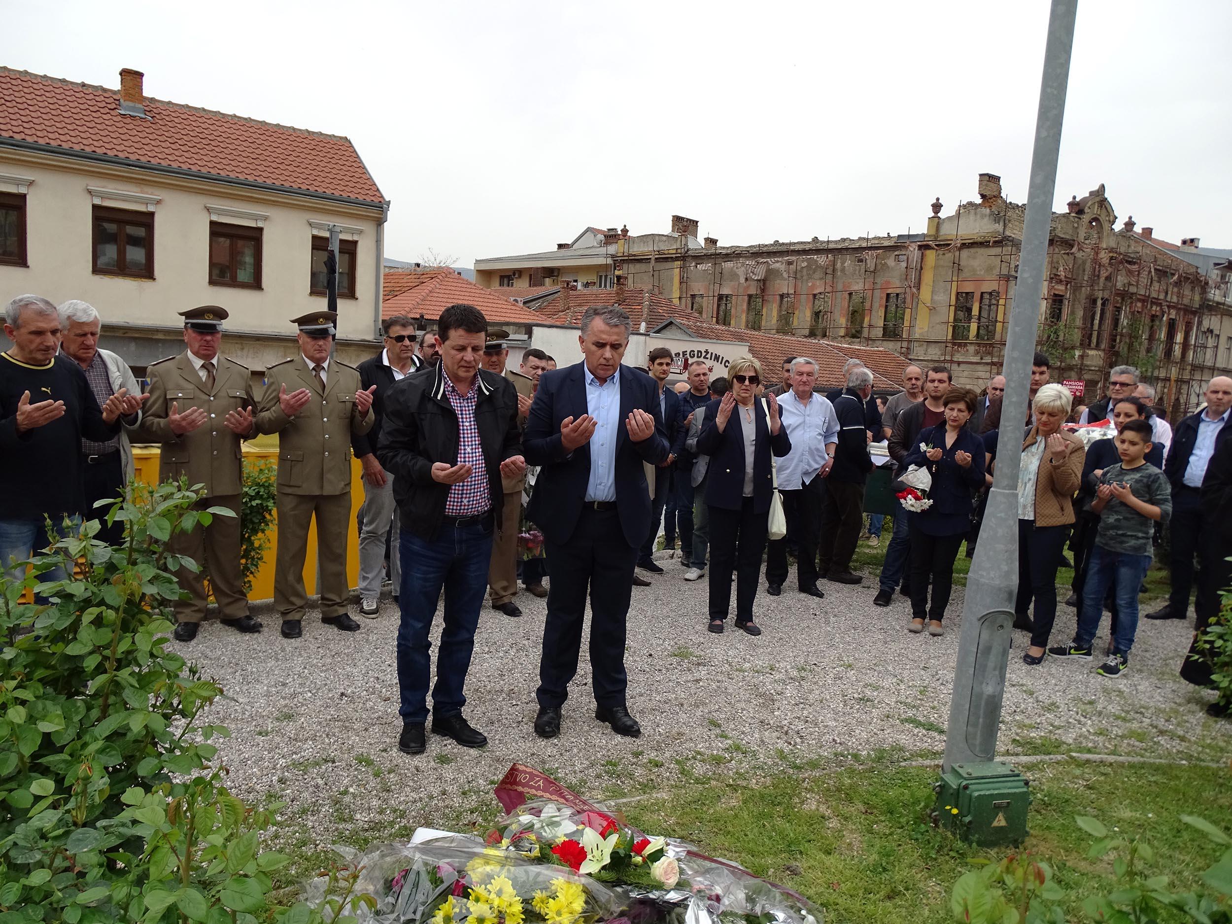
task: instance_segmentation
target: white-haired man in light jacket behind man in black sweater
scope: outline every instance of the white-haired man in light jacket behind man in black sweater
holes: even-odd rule
[[[59,307],[60,352],[76,362],[90,383],[99,407],[121,388],[128,394],[139,394],[137,377],[128,363],[110,350],[99,347],[99,330],[102,320],[97,309],[80,301],[65,302]],[[128,430],[140,424],[138,409],[123,420],[123,429],[110,440],[81,440],[81,464],[85,476],[85,516],[97,519],[102,525],[95,538],[116,545],[124,537],[124,524],[116,520],[107,525],[107,508],[95,509],[95,501],[115,500],[133,477],[133,448],[128,442]]]

